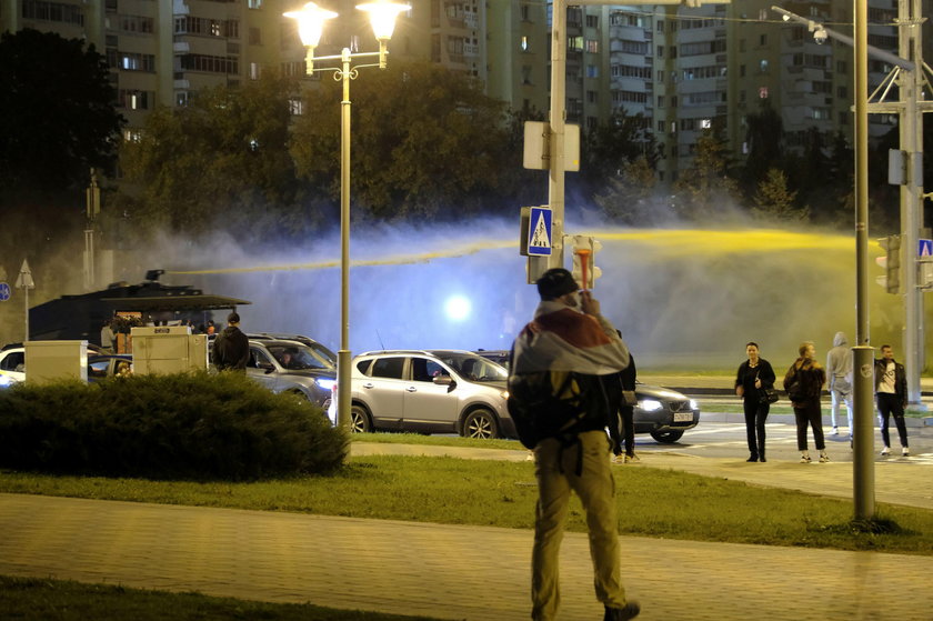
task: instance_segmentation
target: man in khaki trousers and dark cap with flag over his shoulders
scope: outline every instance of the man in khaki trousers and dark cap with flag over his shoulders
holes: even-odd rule
[[[571,491],[586,512],[596,599],[604,621],[625,621],[640,612],[622,587],[615,481],[608,424],[618,409],[605,383],[619,382],[629,350],[600,303],[579,291],[561,268],[538,279],[541,303],[512,345],[509,411],[522,443],[534,450],[538,505],[531,564],[531,617],[550,621],[558,613],[558,567]],[[618,404],[615,404],[618,408]]]

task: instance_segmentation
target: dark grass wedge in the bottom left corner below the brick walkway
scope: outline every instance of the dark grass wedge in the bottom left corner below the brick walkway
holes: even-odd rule
[[[211,598],[199,593],[168,593],[68,580],[0,575],[0,619],[20,621],[438,621],[335,610],[311,604],[275,604]]]

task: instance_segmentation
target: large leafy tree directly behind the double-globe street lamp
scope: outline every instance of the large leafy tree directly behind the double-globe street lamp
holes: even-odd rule
[[[299,174],[340,196],[341,84],[309,90],[291,151]],[[393,62],[351,87],[351,197],[357,218],[462,217],[509,202],[504,104],[481,83],[431,63]]]

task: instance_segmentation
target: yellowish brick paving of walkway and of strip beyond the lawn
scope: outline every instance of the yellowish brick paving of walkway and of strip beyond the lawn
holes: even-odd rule
[[[702,464],[700,473],[729,478],[761,475],[762,465],[772,465],[644,461],[683,470]],[[821,464],[821,485],[851,477],[844,465]],[[914,501],[930,494],[930,468],[892,474],[913,490],[904,504],[925,505]],[[816,468],[787,468],[778,479],[805,487],[809,470]],[[528,619],[524,530],[0,494],[0,533],[3,574],[440,619]],[[643,607],[640,620],[933,619],[933,557],[633,537],[622,538],[622,553],[626,589]],[[565,535],[561,561],[561,619],[601,619],[585,535]]]

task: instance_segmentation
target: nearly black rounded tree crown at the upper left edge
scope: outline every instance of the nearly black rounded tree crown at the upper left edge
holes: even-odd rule
[[[24,29],[0,34],[0,200],[83,188],[111,164],[122,117],[93,46]]]

